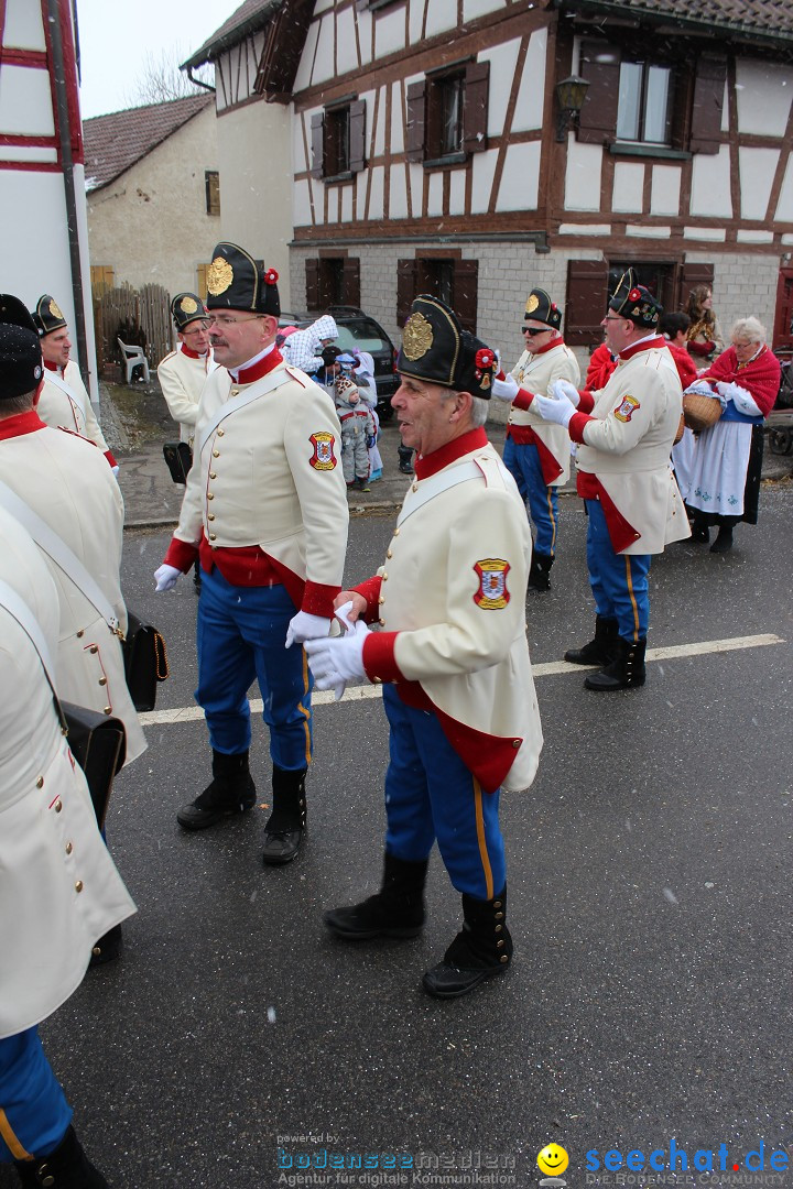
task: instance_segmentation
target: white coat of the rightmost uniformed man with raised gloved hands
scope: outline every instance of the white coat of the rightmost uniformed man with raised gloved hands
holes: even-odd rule
[[[594,398],[592,415],[575,413],[569,423],[571,438],[581,443],[578,470],[597,477],[632,529],[632,542],[617,552],[663,553],[665,545],[691,536],[669,465],[682,411],[671,352],[652,342],[629,347]]]

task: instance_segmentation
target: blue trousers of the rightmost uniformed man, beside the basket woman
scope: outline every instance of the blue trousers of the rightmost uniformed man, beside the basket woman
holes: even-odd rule
[[[599,499],[586,499],[586,565],[598,615],[616,619],[623,640],[644,640],[650,617],[647,575],[653,555],[615,553]]]

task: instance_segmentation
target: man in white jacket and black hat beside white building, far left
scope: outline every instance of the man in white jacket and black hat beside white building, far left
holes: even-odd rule
[[[39,417],[48,426],[70,429],[71,433],[80,434],[94,446],[99,446],[113,467],[113,473],[118,474],[119,465],[99,428],[80,369],[74,359],[69,358],[71,339],[67,320],[49,294],[44,294],[36,303],[33,322],[40,336],[44,357],[44,386],[38,400]]]

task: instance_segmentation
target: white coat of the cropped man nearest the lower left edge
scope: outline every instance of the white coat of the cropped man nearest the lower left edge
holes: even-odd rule
[[[32,612],[54,659],[55,583],[30,536],[10,516],[0,518],[0,578]],[[57,685],[57,671],[51,677]],[[0,688],[2,1038],[59,1007],[82,982],[97,938],[136,908],[102,842],[82,769],[61,732],[39,654],[1,603]]]

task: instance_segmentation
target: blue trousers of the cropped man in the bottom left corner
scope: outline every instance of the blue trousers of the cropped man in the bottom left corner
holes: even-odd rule
[[[71,1107],[38,1028],[0,1040],[0,1160],[49,1156],[70,1122]]]

